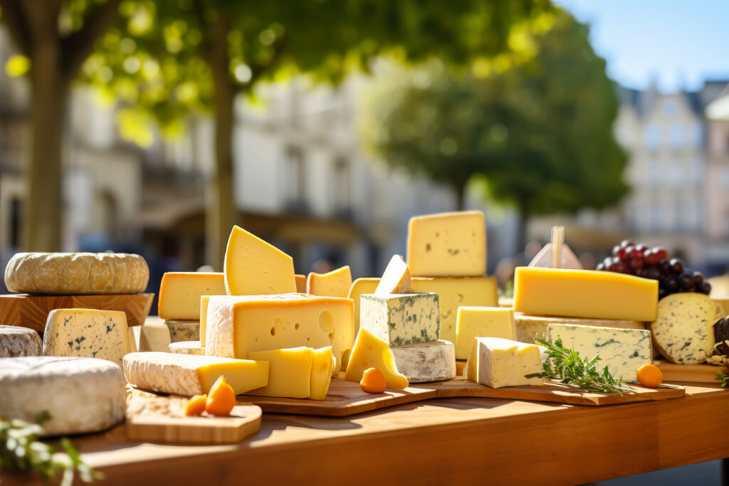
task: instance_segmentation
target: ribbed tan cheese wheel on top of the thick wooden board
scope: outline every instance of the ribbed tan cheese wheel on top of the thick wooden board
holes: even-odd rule
[[[18,253],[5,267],[5,286],[21,294],[139,294],[149,267],[121,253]]]

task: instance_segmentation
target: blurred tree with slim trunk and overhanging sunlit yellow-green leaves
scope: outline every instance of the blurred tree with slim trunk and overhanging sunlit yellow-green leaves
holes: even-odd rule
[[[295,74],[339,82],[355,69],[366,71],[378,55],[457,65],[499,53],[526,57],[529,45],[520,38],[545,30],[553,18],[549,0],[125,0],[120,12],[120,23],[87,61],[86,79],[120,98],[122,136],[141,143],[151,141],[152,121],[173,134],[185,114],[213,111],[216,167],[206,241],[218,268],[235,223],[239,93],[252,95],[261,81]]]

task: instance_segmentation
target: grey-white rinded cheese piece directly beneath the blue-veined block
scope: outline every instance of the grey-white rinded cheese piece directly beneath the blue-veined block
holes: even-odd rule
[[[456,377],[456,353],[452,342],[416,342],[390,350],[397,371],[405,375],[409,383],[453,380]]]

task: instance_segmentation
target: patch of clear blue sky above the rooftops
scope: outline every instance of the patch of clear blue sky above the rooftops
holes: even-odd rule
[[[729,79],[729,0],[554,0],[590,23],[612,79],[663,91]]]

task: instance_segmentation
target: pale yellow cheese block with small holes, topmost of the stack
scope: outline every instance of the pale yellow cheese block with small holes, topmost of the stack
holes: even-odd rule
[[[480,211],[410,219],[408,267],[413,277],[479,277],[486,273],[486,219]]]

